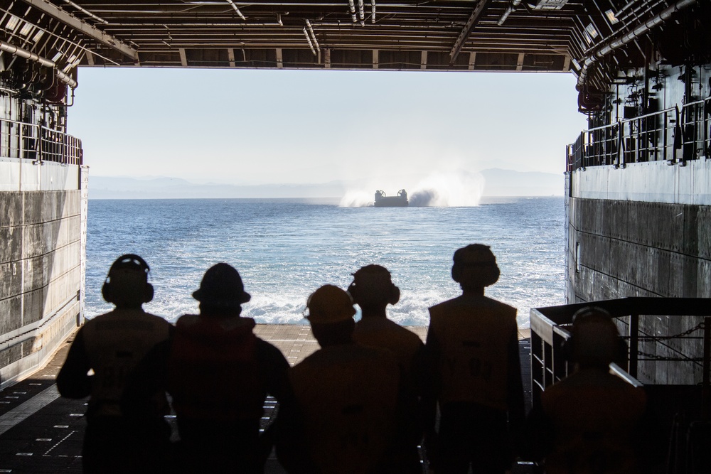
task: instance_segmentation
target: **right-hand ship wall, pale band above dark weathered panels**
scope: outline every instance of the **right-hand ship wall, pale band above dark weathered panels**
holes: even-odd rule
[[[663,296],[711,298],[711,160],[685,166],[665,161],[626,168],[595,166],[567,176],[567,300],[569,303]],[[641,318],[646,335],[676,335],[700,318]],[[624,323],[621,330],[626,330]],[[695,333],[693,335],[699,335]],[[702,340],[643,343],[653,357],[698,357]],[[641,363],[639,379],[694,384],[693,364]]]

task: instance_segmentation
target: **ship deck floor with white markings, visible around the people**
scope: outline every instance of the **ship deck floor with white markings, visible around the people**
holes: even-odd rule
[[[424,326],[409,329],[422,340],[427,335]],[[308,325],[260,324],[255,333],[279,348],[291,365],[319,348]],[[530,382],[530,331],[521,330],[519,338],[523,380]],[[0,473],[82,472],[86,399],[62,398],[55,385],[72,340],[60,345],[50,362],[31,377],[0,391]],[[527,398],[530,400],[528,389]],[[269,423],[274,404],[273,399],[267,399],[264,405],[264,426]],[[265,472],[284,471],[272,455]]]

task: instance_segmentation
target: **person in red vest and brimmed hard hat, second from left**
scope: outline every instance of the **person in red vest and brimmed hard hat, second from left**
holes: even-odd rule
[[[193,298],[200,314],[178,319],[169,360],[178,470],[260,473],[271,449],[260,439],[264,399],[287,397],[289,364],[240,316],[250,294],[232,266],[210,267]]]

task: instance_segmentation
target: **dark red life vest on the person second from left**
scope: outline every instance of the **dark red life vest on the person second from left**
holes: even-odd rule
[[[259,420],[266,389],[250,318],[178,319],[169,362],[169,393],[178,418]]]

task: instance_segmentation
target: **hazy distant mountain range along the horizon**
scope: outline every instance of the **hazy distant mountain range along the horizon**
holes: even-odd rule
[[[485,196],[562,195],[563,175],[490,168],[481,171]],[[316,184],[198,184],[181,178],[129,178],[89,175],[90,199],[340,198],[363,188],[355,181]],[[374,192],[375,190],[373,190]]]

